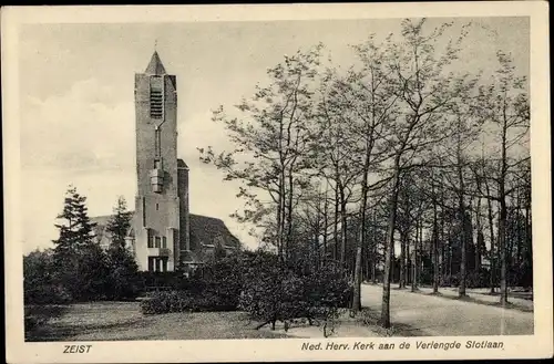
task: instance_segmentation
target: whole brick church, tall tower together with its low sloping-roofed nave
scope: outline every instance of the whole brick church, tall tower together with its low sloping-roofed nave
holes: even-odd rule
[[[140,270],[189,271],[240,243],[216,218],[189,214],[188,166],[177,158],[177,83],[154,52],[135,74],[137,195],[127,236]],[[107,248],[110,216],[92,218]]]

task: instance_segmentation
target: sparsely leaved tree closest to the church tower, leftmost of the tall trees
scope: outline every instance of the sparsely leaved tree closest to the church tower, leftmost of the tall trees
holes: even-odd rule
[[[250,100],[237,105],[239,117],[226,115],[223,107],[214,112],[213,119],[224,124],[235,145],[232,152],[199,148],[203,162],[224,170],[226,180],[242,183],[237,197],[245,198],[246,206],[243,215],[236,215],[239,221],[263,225],[269,217],[268,240],[283,259],[293,235],[295,187],[302,183],[301,171],[310,167],[302,156],[312,136],[311,98],[321,48],[298,51],[269,69],[273,82],[257,86]]]

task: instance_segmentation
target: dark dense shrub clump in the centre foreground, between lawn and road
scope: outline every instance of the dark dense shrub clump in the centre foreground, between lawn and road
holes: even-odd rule
[[[331,320],[348,308],[353,289],[345,271],[328,262],[308,271],[287,266],[275,254],[245,252],[212,262],[193,277],[143,274],[152,292],[141,303],[144,314],[244,310],[263,322],[305,318]]]

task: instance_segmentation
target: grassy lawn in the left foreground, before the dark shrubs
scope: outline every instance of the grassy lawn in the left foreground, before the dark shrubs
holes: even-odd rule
[[[143,315],[137,302],[93,302],[34,306],[35,327],[25,341],[121,341],[278,339],[283,333],[255,330],[245,312],[195,312]]]

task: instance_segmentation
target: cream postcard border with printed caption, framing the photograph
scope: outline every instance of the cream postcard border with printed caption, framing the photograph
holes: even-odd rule
[[[4,171],[4,267],[7,361],[9,363],[345,361],[422,358],[530,358],[553,355],[552,229],[550,164],[550,87],[547,3],[494,1],[451,3],[281,4],[205,7],[8,7],[2,8],[2,118]],[[22,245],[20,243],[20,148],[18,102],[18,30],[22,23],[130,23],[185,21],[260,21],[383,19],[418,17],[530,17],[531,154],[535,334],[476,336],[502,340],[504,350],[465,350],[469,336],[433,337],[462,342],[450,351],[301,351],[307,340],[127,341],[91,342],[89,354],[63,354],[62,342],[23,341]],[[38,186],[40,188],[40,186]],[[32,228],[32,227],[28,227]],[[376,343],[414,343],[422,337],[376,337]],[[352,343],[353,339],[310,340]],[[71,343],[75,344],[75,343]],[[81,343],[80,343],[81,344]]]

